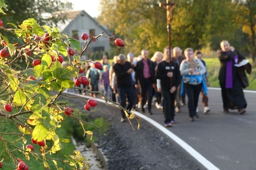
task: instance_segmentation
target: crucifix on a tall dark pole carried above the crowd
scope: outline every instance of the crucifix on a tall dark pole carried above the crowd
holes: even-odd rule
[[[169,44],[169,64],[170,64],[170,72],[171,70],[171,21],[172,21],[172,10],[175,8],[177,3],[170,2],[166,0],[166,3],[159,3],[160,7],[163,7],[166,10],[167,17],[167,31],[168,31],[168,44]],[[172,78],[170,78],[170,85],[172,88]]]

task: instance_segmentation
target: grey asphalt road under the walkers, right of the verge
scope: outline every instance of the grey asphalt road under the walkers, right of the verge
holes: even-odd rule
[[[244,93],[248,103],[244,115],[238,115],[237,110],[229,110],[230,113],[224,114],[220,89],[209,88],[211,111],[208,114],[203,113],[199,99],[199,118],[190,122],[188,106],[185,105],[176,114],[176,123],[172,127],[160,129],[167,129],[176,135],[179,139],[176,142],[181,140],[178,143],[185,149],[187,144],[191,146],[191,155],[195,159],[200,162],[203,158],[201,162],[206,160],[212,164],[206,166],[208,169],[256,170],[256,91]],[[147,116],[157,122],[153,121],[153,124],[163,125],[161,110],[153,106],[152,112],[153,115]]]

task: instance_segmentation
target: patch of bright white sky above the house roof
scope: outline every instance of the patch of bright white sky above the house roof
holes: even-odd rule
[[[73,3],[73,10],[85,10],[92,17],[99,15],[99,0],[68,0]]]

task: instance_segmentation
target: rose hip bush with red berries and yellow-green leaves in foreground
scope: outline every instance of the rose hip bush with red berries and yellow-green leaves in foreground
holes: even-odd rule
[[[6,8],[4,3],[0,5]],[[4,13],[2,8],[0,9],[0,13]],[[100,92],[77,87],[80,84],[90,83],[87,77],[79,77],[79,72],[83,70],[79,63],[89,62],[81,61],[81,56],[93,39],[100,36],[106,38],[114,38],[114,36],[108,37],[101,33],[88,40],[88,34],[83,33],[84,42],[81,47],[81,42],[61,34],[57,27],[39,25],[34,19],[25,20],[20,25],[0,21],[0,106],[2,106],[0,119],[11,120],[17,125],[15,132],[7,133],[0,130],[0,141],[3,144],[1,146],[6,148],[16,170],[29,168],[27,163],[31,156],[40,160],[46,170],[50,169],[49,161],[53,161],[58,170],[63,170],[59,167],[58,161],[69,165],[70,169],[88,170],[89,164],[86,158],[77,150],[72,154],[67,153],[65,160],[52,157],[52,154],[63,148],[63,143],[69,142],[68,139],[59,138],[56,132],[56,129],[61,128],[64,117],[79,121],[83,126],[84,136],[92,138],[93,135],[92,131],[87,131],[84,127],[84,124],[92,124],[83,121],[81,113],[75,111],[68,103],[58,102],[58,98],[76,97],[68,96],[64,93],[65,89],[80,89],[105,97]],[[12,42],[13,39],[2,35],[3,31],[17,36],[21,41]],[[123,41],[121,44],[120,42],[118,46],[123,46]],[[20,60],[26,61],[26,67],[19,65]],[[67,61],[69,65],[63,68],[63,61]],[[98,62],[95,67],[102,69],[102,65]],[[72,81],[73,78],[76,79],[75,82]],[[79,99],[85,102],[85,111],[89,112],[91,107],[97,105],[94,99]],[[129,121],[135,118],[138,128],[143,125],[139,118],[119,103],[106,99],[123,109]],[[6,139],[8,135],[12,136],[12,141],[9,140],[10,138]],[[27,141],[25,137],[30,138],[31,141]],[[40,146],[40,150],[34,149],[34,146]],[[15,156],[17,150],[25,155],[26,160]],[[0,166],[3,167],[2,164],[4,158],[0,158]]]

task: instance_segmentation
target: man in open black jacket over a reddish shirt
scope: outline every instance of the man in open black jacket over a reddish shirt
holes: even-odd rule
[[[138,61],[135,71],[135,87],[141,87],[142,112],[145,113],[144,105],[148,99],[148,114],[152,115],[152,90],[156,86],[155,67],[153,61],[148,59],[149,51],[141,50],[142,60]]]

